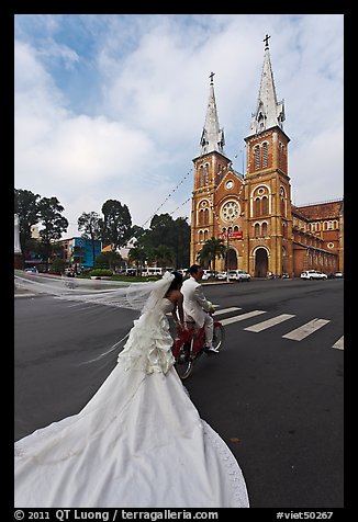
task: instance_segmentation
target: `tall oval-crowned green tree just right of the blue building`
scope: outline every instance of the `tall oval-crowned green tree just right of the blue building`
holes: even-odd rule
[[[102,205],[103,246],[111,245],[112,250],[124,247],[132,234],[132,217],[126,205],[116,200],[107,200]]]

